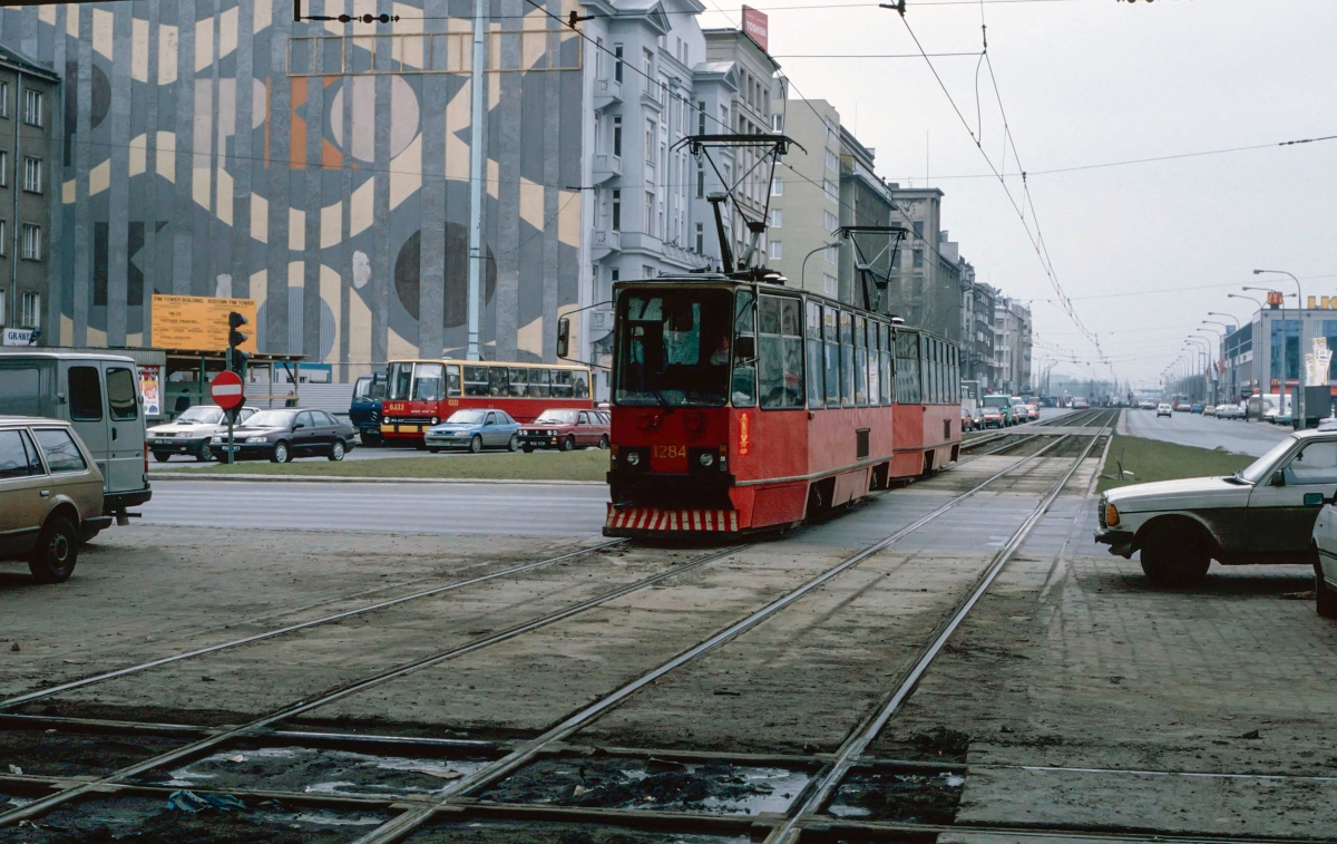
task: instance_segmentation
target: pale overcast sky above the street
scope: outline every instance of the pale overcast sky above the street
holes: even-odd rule
[[[707,8],[727,19],[711,11],[703,25],[737,25],[737,5],[714,3]],[[921,186],[928,170],[947,194],[943,227],[979,278],[1035,300],[1038,361],[1094,361],[1094,346],[1044,301],[1054,289],[999,181],[948,178],[989,170],[923,58],[786,58],[917,56],[898,16],[838,3],[779,8],[800,4],[813,0],[754,3],[770,15],[770,52],[798,92],[836,106],[876,147],[884,178]],[[1337,135],[1334,0],[985,0],[983,15],[1027,171]],[[979,54],[980,19],[979,3],[910,0],[906,11],[931,54]],[[977,55],[933,64],[973,128]],[[979,100],[984,148],[1001,166],[987,67]],[[1011,151],[1007,171],[1016,171]],[[1020,179],[1008,186],[1020,197]],[[1063,290],[1119,379],[1135,385],[1155,384],[1209,310],[1251,314],[1253,304],[1226,293],[1257,284],[1294,290],[1285,277],[1261,282],[1255,266],[1301,277],[1306,297],[1337,296],[1337,140],[1034,175],[1031,194]]]

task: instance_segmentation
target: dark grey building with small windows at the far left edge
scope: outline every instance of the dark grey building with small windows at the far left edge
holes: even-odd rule
[[[0,328],[23,329],[12,344],[59,326],[49,290],[60,94],[56,72],[0,43]]]

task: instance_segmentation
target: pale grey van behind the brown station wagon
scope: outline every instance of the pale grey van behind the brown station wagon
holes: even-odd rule
[[[128,507],[152,496],[135,361],[120,354],[0,353],[0,416],[68,421],[103,478],[103,510],[126,524]]]

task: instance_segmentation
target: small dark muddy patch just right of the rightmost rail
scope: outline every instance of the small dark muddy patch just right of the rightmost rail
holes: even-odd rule
[[[854,770],[841,782],[826,813],[860,820],[951,824],[965,777],[957,773]]]

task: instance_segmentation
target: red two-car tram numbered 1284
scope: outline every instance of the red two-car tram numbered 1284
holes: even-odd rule
[[[723,274],[615,298],[606,535],[789,527],[957,457],[947,340]]]

